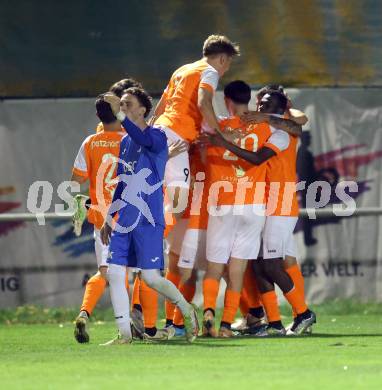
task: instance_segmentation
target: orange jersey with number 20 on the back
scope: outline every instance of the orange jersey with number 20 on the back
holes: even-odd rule
[[[246,150],[256,152],[262,148],[271,135],[271,127],[266,123],[247,125],[239,117],[219,121],[221,129],[241,130],[246,134],[235,143]],[[210,186],[223,183],[216,194],[217,205],[265,204],[266,164],[254,166],[240,159],[230,151],[217,147],[208,147],[207,176]],[[228,182],[228,183],[227,183]],[[212,187],[211,187],[212,191]],[[211,196],[213,196],[211,194]]]

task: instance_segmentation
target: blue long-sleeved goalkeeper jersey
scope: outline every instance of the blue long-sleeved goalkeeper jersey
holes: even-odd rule
[[[166,134],[148,126],[143,131],[126,118],[128,135],[120,144],[118,184],[110,207],[118,212],[117,223],[124,232],[141,224],[165,226],[163,180],[168,158]],[[118,229],[116,229],[118,231]]]

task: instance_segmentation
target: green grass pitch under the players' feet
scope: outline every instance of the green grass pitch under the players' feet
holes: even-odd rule
[[[381,389],[380,309],[316,310],[310,337],[199,338],[192,345],[176,339],[100,347],[115,335],[111,321],[92,322],[90,343],[80,345],[70,322],[8,321],[0,325],[1,388]]]

